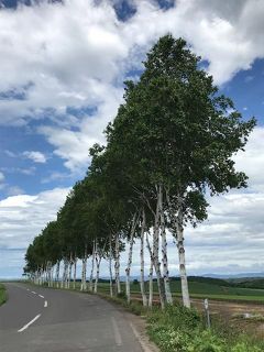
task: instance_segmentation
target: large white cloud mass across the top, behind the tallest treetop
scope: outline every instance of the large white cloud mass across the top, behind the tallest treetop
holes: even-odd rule
[[[70,169],[84,167],[88,148],[103,141],[123,79],[141,68],[158,36],[186,37],[218,84],[264,57],[261,1],[179,0],[167,10],[156,1],[130,1],[135,12],[127,21],[114,12],[118,2],[41,1],[0,10],[0,123],[50,119],[40,131]],[[76,116],[76,109],[86,112]]]

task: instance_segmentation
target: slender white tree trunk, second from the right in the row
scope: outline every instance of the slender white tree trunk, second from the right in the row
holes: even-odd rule
[[[168,274],[168,261],[167,261],[167,239],[166,239],[166,227],[165,227],[165,217],[163,209],[163,186],[158,186],[158,197],[160,197],[160,216],[161,216],[161,230],[162,230],[162,255],[163,255],[163,279],[164,279],[164,289],[166,296],[166,302],[173,304],[173,296],[169,287],[169,274]]]

